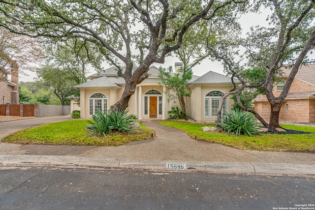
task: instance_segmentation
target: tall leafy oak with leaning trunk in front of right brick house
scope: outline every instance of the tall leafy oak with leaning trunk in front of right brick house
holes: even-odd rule
[[[255,27],[244,40],[249,68],[267,71],[261,87],[271,104],[269,128],[280,127],[279,114],[283,101],[299,66],[310,62],[308,54],[315,48],[314,0],[258,0],[255,9],[270,8],[270,28]],[[279,96],[273,94],[275,76],[289,63],[290,75]]]

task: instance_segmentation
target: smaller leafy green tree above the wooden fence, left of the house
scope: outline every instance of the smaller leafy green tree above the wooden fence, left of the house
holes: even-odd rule
[[[69,39],[67,43],[46,45],[45,52],[45,63],[36,73],[39,81],[59,98],[61,105],[69,105],[67,96],[80,95],[73,86],[87,81],[89,66],[101,69],[103,57],[89,42]]]

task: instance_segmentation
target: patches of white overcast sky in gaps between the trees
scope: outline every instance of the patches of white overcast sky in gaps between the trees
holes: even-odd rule
[[[268,14],[270,14],[270,11],[261,10],[261,14],[248,13],[248,14],[242,16],[240,18],[240,23],[241,23],[241,26],[243,29],[242,30],[242,36],[245,36],[246,33],[250,31],[250,28],[252,26],[259,25],[259,26],[268,27],[268,23],[266,21]],[[154,65],[156,67],[163,66],[165,68],[171,65],[174,68],[175,62],[179,62],[179,61],[180,60],[176,57],[167,57],[167,58],[165,58],[165,62],[163,64],[154,63]],[[105,69],[110,67],[110,65],[108,65],[107,63],[104,63],[103,66]],[[214,71],[214,72],[223,74],[223,66],[222,66],[221,62],[219,62],[219,61],[212,62],[209,59],[203,60],[199,65],[195,66],[192,70],[193,70],[193,74],[197,75],[197,76],[201,76],[201,75],[207,73],[208,71]],[[35,72],[28,71],[25,73],[27,73],[29,76],[20,75],[20,78],[19,78],[20,81],[32,82],[33,78],[36,77]],[[91,74],[94,74],[94,73],[96,73],[96,71],[93,69],[90,69],[90,73],[88,74],[88,76]]]

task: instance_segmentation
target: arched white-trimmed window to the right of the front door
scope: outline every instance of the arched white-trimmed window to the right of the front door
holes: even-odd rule
[[[219,104],[221,100],[221,96],[224,93],[219,90],[213,90],[206,94],[205,96],[205,110],[204,115],[205,118],[215,118],[217,117],[218,110],[219,110]],[[224,100],[222,113],[227,112],[227,98]]]

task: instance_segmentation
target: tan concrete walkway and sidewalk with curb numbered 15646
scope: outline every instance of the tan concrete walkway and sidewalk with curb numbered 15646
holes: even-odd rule
[[[5,127],[2,123],[8,122],[0,122],[0,138]],[[157,131],[154,139],[119,147],[0,143],[0,162],[162,170],[174,169],[176,165],[179,170],[315,175],[315,153],[239,150],[196,141],[183,131],[160,125],[158,120],[147,120],[143,124]]]

